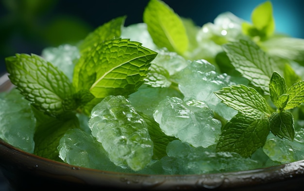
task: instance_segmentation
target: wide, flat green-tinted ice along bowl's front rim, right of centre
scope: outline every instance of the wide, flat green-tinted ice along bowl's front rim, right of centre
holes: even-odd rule
[[[152,165],[153,170],[150,170],[150,173],[210,174],[244,171],[262,166],[257,160],[243,158],[236,153],[215,152],[210,148],[192,147],[180,140],[171,141],[167,146],[167,153],[168,156]],[[157,170],[154,170],[155,168]]]

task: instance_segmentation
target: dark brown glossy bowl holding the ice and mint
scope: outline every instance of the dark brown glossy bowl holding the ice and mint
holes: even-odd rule
[[[12,84],[0,77],[0,92]],[[154,191],[292,191],[304,187],[304,160],[217,174],[149,175],[107,172],[24,152],[0,139],[0,171],[13,190],[100,189]]]

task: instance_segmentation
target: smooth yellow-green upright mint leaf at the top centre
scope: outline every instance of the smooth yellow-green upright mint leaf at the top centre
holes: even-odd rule
[[[150,0],[143,14],[153,42],[160,48],[183,54],[188,49],[188,37],[182,19],[161,0]]]

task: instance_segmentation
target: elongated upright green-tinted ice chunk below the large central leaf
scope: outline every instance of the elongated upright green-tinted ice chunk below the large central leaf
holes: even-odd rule
[[[123,96],[108,96],[91,112],[89,127],[117,166],[138,171],[153,155],[146,122]]]

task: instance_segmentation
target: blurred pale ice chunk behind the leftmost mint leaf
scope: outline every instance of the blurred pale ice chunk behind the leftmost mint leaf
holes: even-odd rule
[[[76,46],[63,44],[58,47],[48,47],[42,50],[41,55],[62,70],[72,81],[75,63],[80,58],[80,52]]]

